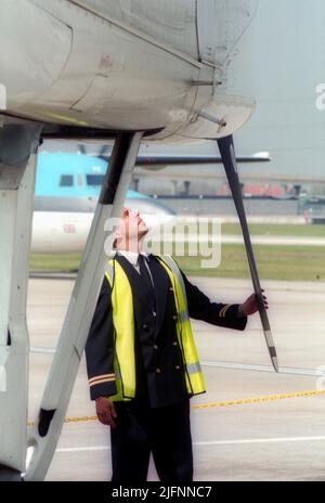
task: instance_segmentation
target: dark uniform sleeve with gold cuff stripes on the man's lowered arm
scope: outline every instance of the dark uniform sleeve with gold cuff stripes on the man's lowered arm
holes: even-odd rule
[[[108,397],[117,392],[114,373],[114,326],[110,286],[103,280],[86,345],[86,362],[90,398]]]

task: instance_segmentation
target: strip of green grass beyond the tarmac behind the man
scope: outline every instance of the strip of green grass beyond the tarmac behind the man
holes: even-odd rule
[[[255,246],[256,260],[262,280],[325,281],[325,249],[317,246]],[[217,269],[202,269],[202,257],[176,257],[188,275],[219,278],[249,278],[245,249],[242,245],[223,245],[221,265]],[[31,255],[34,271],[74,271],[80,262],[79,254]]]

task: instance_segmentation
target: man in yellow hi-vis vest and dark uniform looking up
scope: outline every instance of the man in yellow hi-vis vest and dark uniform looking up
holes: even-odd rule
[[[190,398],[205,392],[190,317],[243,331],[258,306],[211,302],[170,257],[142,250],[147,232],[122,209],[86,346],[90,395],[110,426],[113,482],[144,482],[151,452],[162,482],[188,482]]]

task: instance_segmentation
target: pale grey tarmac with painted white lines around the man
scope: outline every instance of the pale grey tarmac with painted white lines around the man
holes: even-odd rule
[[[242,302],[248,280],[192,278],[211,300]],[[35,420],[72,279],[31,279],[29,420]],[[263,282],[280,373],[259,315],[245,332],[193,320],[207,392],[191,400],[195,480],[325,480],[325,283]],[[323,369],[325,373],[325,367]],[[82,360],[47,480],[109,480],[109,428],[94,421]],[[148,480],[157,480],[151,463]]]

